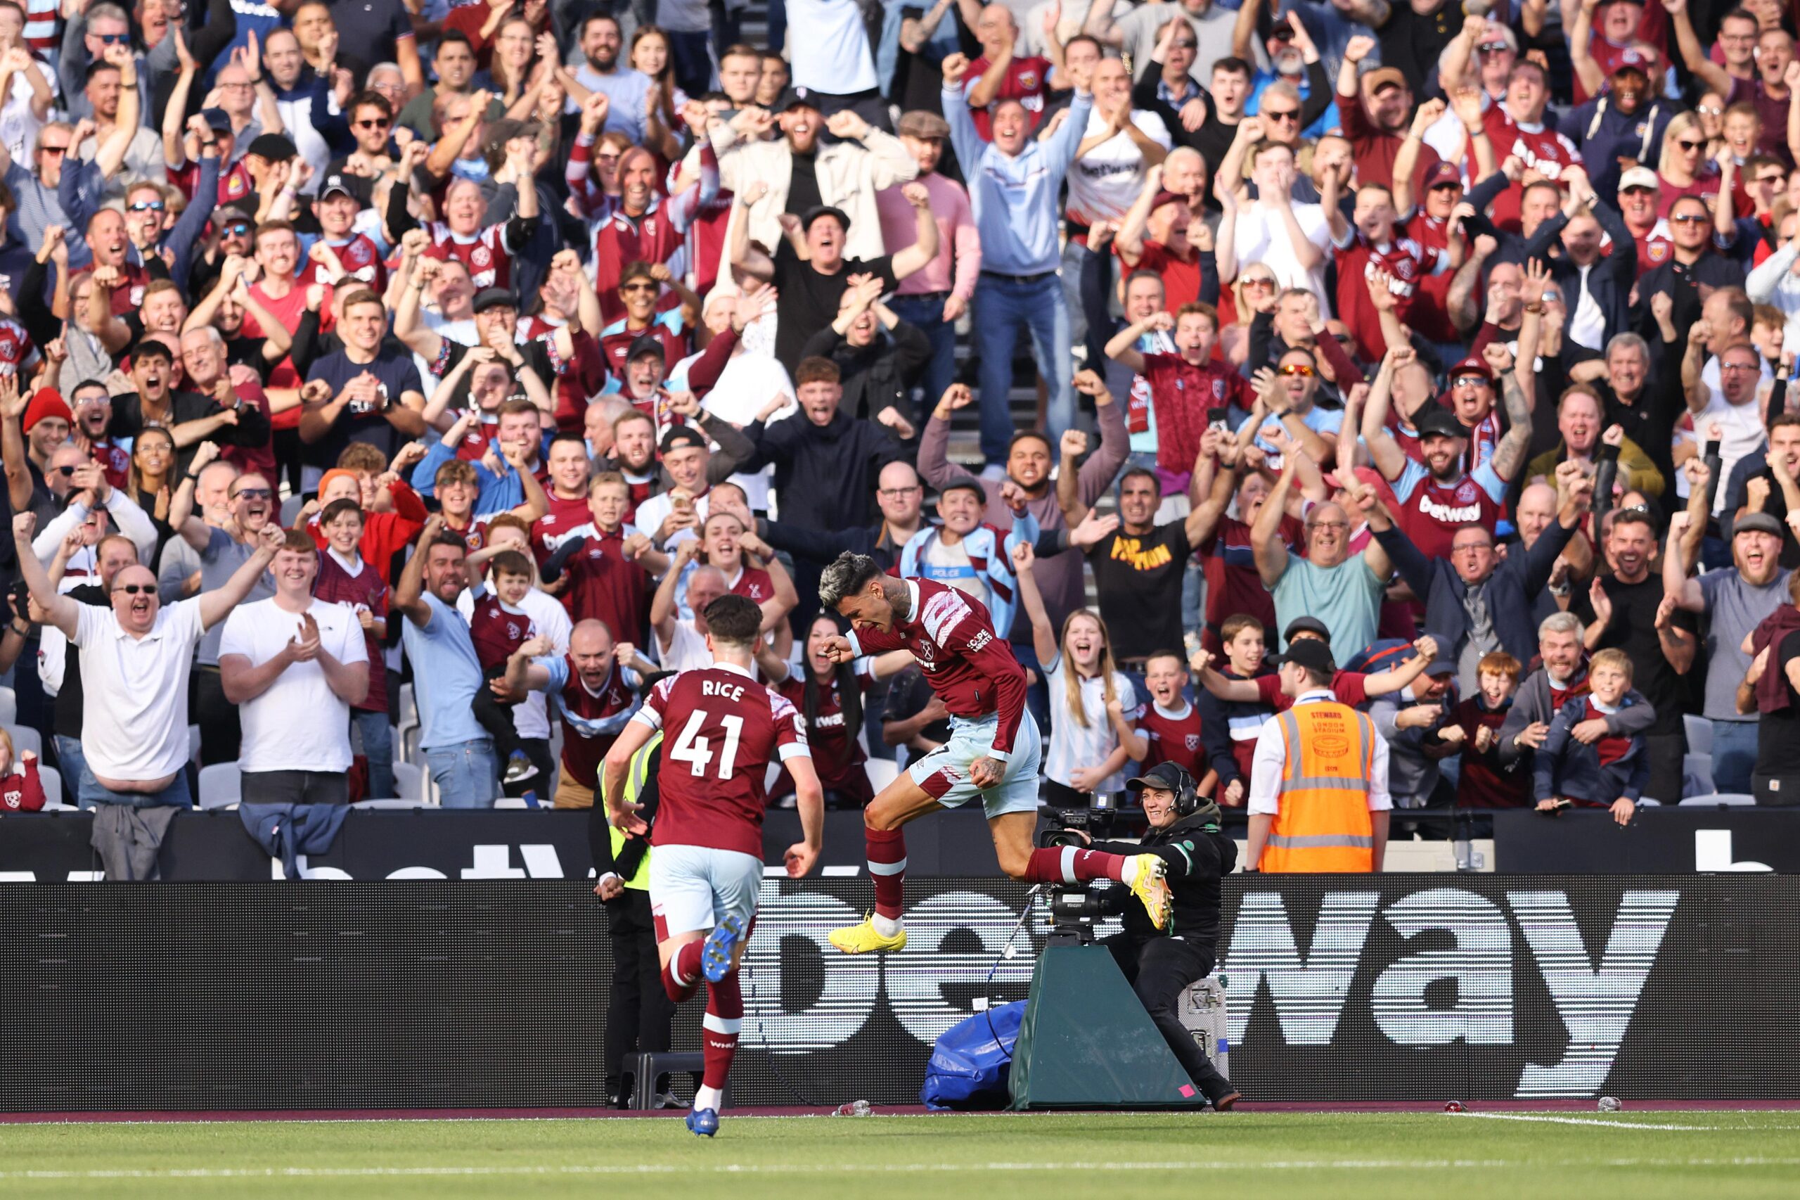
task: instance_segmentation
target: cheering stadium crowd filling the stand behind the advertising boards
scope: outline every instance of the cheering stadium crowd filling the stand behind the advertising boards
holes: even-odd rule
[[[1258,811],[1303,640],[1372,804],[1800,793],[1796,11],[1463,7],[0,0],[4,804],[394,796],[410,681],[587,807],[733,593],[860,807],[844,550],[1051,805]]]

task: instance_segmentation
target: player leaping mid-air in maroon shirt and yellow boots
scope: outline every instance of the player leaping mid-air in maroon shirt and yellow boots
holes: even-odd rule
[[[902,950],[905,881],[902,825],[976,796],[994,832],[1001,870],[1033,883],[1118,879],[1143,901],[1156,928],[1168,921],[1168,885],[1156,854],[1100,854],[1075,847],[1033,849],[1040,737],[1024,706],[1024,668],[986,607],[927,578],[895,578],[868,555],[850,551],[824,569],[819,602],[850,618],[850,636],[826,643],[846,663],[882,650],[913,650],[925,681],[950,710],[950,741],[909,766],[862,811],[875,914],[832,933],[844,953]]]

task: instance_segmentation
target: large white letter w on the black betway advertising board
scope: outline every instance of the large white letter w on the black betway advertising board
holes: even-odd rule
[[[1231,946],[1219,955],[1231,980],[1231,1041],[1242,1041],[1256,984],[1267,982],[1282,1038],[1289,1045],[1330,1045],[1379,903],[1375,892],[1328,892],[1319,905],[1312,946],[1301,959],[1280,894],[1246,895],[1231,928]]]

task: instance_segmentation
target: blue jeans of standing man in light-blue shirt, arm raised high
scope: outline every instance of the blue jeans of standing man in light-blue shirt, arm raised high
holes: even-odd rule
[[[983,272],[976,283],[974,306],[976,362],[981,378],[981,454],[988,465],[1006,461],[1015,432],[1006,393],[1012,389],[1012,353],[1021,326],[1031,333],[1031,357],[1049,391],[1049,445],[1075,425],[1075,389],[1069,386],[1069,306],[1062,299],[1062,281],[1044,276],[1031,283],[1013,283]]]

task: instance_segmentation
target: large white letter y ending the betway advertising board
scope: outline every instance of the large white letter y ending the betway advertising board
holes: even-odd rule
[[[1516,1095],[1593,1095],[1606,1083],[1678,899],[1674,890],[1625,892],[1595,969],[1568,895],[1507,892],[1519,932],[1570,1034],[1561,1063],[1525,1065]]]

